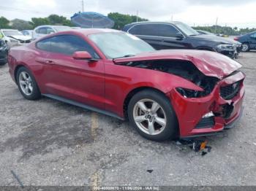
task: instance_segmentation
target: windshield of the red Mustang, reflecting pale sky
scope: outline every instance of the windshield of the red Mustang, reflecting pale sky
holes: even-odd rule
[[[93,41],[107,58],[119,58],[137,55],[141,52],[151,52],[154,48],[136,36],[126,33],[91,34]]]

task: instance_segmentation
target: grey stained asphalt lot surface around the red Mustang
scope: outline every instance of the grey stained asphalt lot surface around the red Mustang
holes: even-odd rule
[[[201,156],[143,139],[122,122],[42,98],[27,101],[0,66],[0,185],[256,185],[256,52],[241,53],[244,116]],[[147,170],[153,170],[148,173]]]

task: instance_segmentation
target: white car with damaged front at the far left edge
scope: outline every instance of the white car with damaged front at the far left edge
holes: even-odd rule
[[[8,47],[14,47],[31,42],[31,37],[24,36],[20,31],[13,29],[0,29],[2,39]]]

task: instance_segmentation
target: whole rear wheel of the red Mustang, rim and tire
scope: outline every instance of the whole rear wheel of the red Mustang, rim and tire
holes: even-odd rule
[[[39,87],[31,71],[25,67],[20,67],[16,75],[18,88],[24,98],[28,100],[37,100],[41,97]]]

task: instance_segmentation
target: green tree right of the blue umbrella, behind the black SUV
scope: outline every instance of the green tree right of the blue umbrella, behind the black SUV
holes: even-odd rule
[[[118,30],[121,30],[125,25],[136,22],[137,20],[137,16],[135,15],[124,15],[118,12],[110,12],[108,17],[115,22],[115,26],[113,28]],[[138,17],[138,21],[147,21],[147,19]]]

